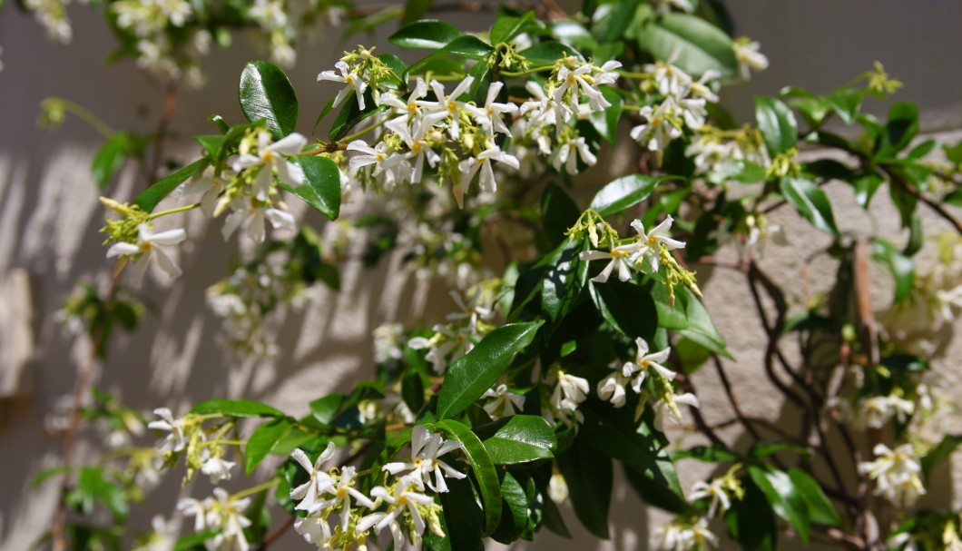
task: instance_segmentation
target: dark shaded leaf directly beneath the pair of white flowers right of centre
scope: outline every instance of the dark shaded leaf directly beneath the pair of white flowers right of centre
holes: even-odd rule
[[[654,338],[658,328],[658,311],[655,309],[651,294],[631,282],[620,282],[617,278],[607,283],[591,282],[595,308],[613,328],[627,338]]]

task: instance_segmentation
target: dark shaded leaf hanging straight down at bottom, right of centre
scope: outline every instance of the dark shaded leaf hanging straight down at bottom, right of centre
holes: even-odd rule
[[[588,433],[585,430],[579,432],[574,445],[558,456],[558,466],[565,476],[578,520],[598,538],[607,539],[612,464],[611,459],[582,439]]]

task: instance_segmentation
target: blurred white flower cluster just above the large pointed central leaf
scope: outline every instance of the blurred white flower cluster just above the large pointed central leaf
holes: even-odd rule
[[[480,285],[475,286],[474,292],[467,296],[468,300],[457,291],[450,291],[459,312],[447,314],[446,324],[432,327],[434,335],[430,338],[416,337],[408,341],[408,346],[416,350],[428,350],[426,358],[439,375],[443,375],[451,362],[470,352],[474,343],[493,329],[487,321],[494,316],[494,308],[484,294]]]

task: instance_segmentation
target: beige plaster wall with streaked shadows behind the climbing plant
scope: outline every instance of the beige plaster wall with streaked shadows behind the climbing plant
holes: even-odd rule
[[[906,83],[899,97],[922,105],[924,128],[946,132],[962,128],[962,96],[958,92],[962,89],[962,73],[950,69],[962,53],[962,36],[957,33],[962,4],[938,0],[740,0],[730,4],[738,32],[759,39],[772,62],[772,68],[755,77],[749,86],[726,90],[726,101],[742,118],[750,119],[754,94],[773,94],[785,84],[828,91],[878,59]],[[86,10],[71,15],[75,39],[64,47],[47,42],[33,21],[12,9],[0,12],[5,65],[0,72],[0,272],[20,268],[29,273],[34,321],[27,326],[36,343],[33,361],[16,384],[16,393],[0,404],[0,481],[5,488],[0,496],[0,549],[5,551],[27,549],[49,526],[56,485],[38,489],[29,485],[40,469],[59,460],[61,440],[45,433],[43,420],[59,398],[71,392],[76,369],[89,354],[84,339],[65,332],[55,313],[79,279],[106,285],[110,270],[96,233],[102,225],[102,212],[89,177],[89,162],[100,138],[76,119],[68,120],[55,133],[38,130],[34,123],[38,102],[51,95],[63,96],[101,114],[116,127],[147,131],[163,100],[158,84],[131,63],[103,65],[113,41],[101,20]],[[468,17],[463,22],[469,29],[487,27],[487,21],[480,17]],[[332,34],[301,48],[297,69],[291,71],[301,100],[300,128],[313,121],[314,113],[334,89],[315,84],[315,78],[319,70],[331,67],[339,57],[342,45],[335,39],[336,34]],[[386,45],[383,36],[364,40]],[[211,56],[204,65],[209,75],[207,88],[181,93],[172,122],[177,138],[172,156],[186,159],[195,152],[189,137],[211,131],[205,122],[208,114],[241,120],[233,99],[241,68],[245,61],[263,57],[263,53],[242,46]],[[949,136],[962,138],[958,133]],[[617,166],[616,162],[612,164]],[[600,170],[595,171],[595,178],[599,183],[605,181]],[[139,175],[127,167],[108,192],[117,198],[132,197],[142,186]],[[876,224],[898,236],[897,217],[883,207],[882,201],[876,201],[877,207],[866,214],[854,205],[848,191],[837,187],[829,190],[844,228],[861,232]],[[300,209],[297,214],[302,223],[323,225],[316,213]],[[398,258],[375,270],[348,263],[340,293],[321,289],[308,307],[284,318],[278,328],[281,354],[275,361],[232,363],[215,343],[219,322],[203,305],[205,288],[224,276],[224,266],[235,249],[224,244],[218,225],[207,228],[195,217],[186,221],[190,242],[182,247],[179,262],[188,276],[176,285],[167,282],[163,274],[148,276],[144,295],[153,297],[154,312],[135,334],[115,338],[109,363],[98,373],[100,387],[118,393],[133,407],[150,410],[165,405],[177,412],[208,397],[249,397],[290,413],[305,413],[311,399],[349,388],[352,381],[370,372],[371,329],[385,321],[417,321],[426,315],[427,303],[445,304],[440,286],[431,286],[399,269]],[[171,220],[172,225],[180,222]],[[827,238],[813,233],[793,215],[779,213],[772,222],[786,229],[791,245],[770,247],[764,265],[785,286],[793,304],[799,304],[806,293],[823,290],[823,281],[833,273],[831,262],[818,259],[808,267],[808,279],[801,277],[806,259],[824,246]],[[926,223],[931,224],[933,233],[940,227],[938,220]],[[730,365],[731,377],[736,392],[750,397],[743,401],[747,413],[790,421],[782,418],[787,413],[779,395],[758,375],[763,334],[747,323],[747,319],[755,318],[744,314],[752,307],[741,276],[697,267],[706,306],[739,360]],[[873,277],[882,289],[874,298],[882,306],[887,300],[887,276],[873,268]],[[958,330],[955,327],[956,333]],[[958,342],[946,358],[959,357]],[[958,381],[962,371],[954,361],[945,361],[939,368],[950,384]],[[0,369],[5,367],[0,365]],[[3,380],[7,385],[7,379]],[[714,375],[703,370],[696,374],[694,383],[709,422],[723,420],[728,410]],[[954,432],[959,428],[954,427]],[[746,438],[737,430],[722,436],[742,443]],[[87,437],[82,440],[79,459],[91,457],[96,448],[93,442],[100,438]],[[694,444],[696,438],[687,437],[685,442]],[[942,473],[944,484],[938,491],[932,489],[933,495],[927,499],[960,505],[962,481],[953,476],[962,473],[960,467],[962,463]],[[681,470],[685,488],[710,474],[700,464],[683,464]],[[206,482],[197,484],[202,488],[184,491],[193,489],[195,494],[203,494],[209,489]],[[152,494],[147,507],[135,510],[132,525],[146,528],[151,513],[172,512],[177,486],[168,480],[164,489]],[[148,509],[150,513],[144,511]],[[574,539],[544,535],[538,543],[519,543],[516,548],[644,550],[649,548],[654,528],[664,520],[663,514],[646,510],[619,481],[612,504],[611,541],[595,542],[569,515]],[[289,535],[278,548],[307,546]],[[500,546],[491,544],[490,548]]]

